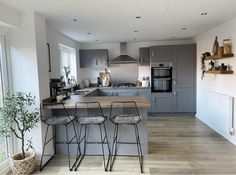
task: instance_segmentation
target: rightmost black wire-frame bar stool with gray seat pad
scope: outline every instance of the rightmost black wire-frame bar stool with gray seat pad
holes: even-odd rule
[[[111,165],[110,171],[117,156],[118,146],[117,144],[136,144],[138,150],[139,164],[141,173],[143,173],[143,155],[142,147],[140,144],[138,123],[141,121],[141,116],[139,115],[137,104],[135,101],[113,101],[111,103],[110,109],[110,121],[115,124],[113,142],[112,142],[112,155],[111,155]],[[122,142],[118,140],[119,126],[127,125],[133,126],[135,131],[136,142]],[[125,136],[125,135],[123,135]],[[127,155],[128,156],[128,155]]]

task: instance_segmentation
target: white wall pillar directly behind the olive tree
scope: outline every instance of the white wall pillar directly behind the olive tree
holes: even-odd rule
[[[31,92],[36,104],[49,97],[49,74],[45,19],[35,13],[23,13],[21,25],[8,33],[13,92]],[[27,134],[32,137],[37,155],[42,152],[44,126],[41,122]],[[19,149],[19,143],[17,148]],[[19,151],[19,150],[16,150]],[[40,157],[38,156],[37,159]]]

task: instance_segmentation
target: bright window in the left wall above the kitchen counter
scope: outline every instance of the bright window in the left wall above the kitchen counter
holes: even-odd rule
[[[61,76],[64,76],[67,84],[75,83],[77,80],[76,70],[76,50],[74,48],[59,44],[60,50],[60,62],[61,62]],[[65,69],[70,71],[68,76],[65,73]],[[69,80],[68,80],[69,79]]]

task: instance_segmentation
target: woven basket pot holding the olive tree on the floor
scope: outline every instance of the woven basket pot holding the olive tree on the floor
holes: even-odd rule
[[[35,170],[35,151],[26,152],[25,157],[25,159],[22,159],[22,153],[15,154],[11,157],[10,164],[14,174],[31,174]]]

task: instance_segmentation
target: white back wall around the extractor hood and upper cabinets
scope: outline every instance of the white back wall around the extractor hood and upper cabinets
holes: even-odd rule
[[[129,42],[127,43],[127,52],[131,57],[139,58],[140,47],[150,47],[154,45],[171,45],[171,44],[190,44],[192,40],[178,40],[178,41],[154,41],[154,42]],[[97,44],[80,44],[80,49],[108,49],[110,60],[120,55],[120,43],[97,43]],[[127,65],[112,65],[109,70],[111,71],[111,79],[114,82],[133,82],[142,80],[143,76],[150,77],[149,66],[139,66],[138,64]],[[99,72],[103,69],[80,69],[81,80],[90,79],[92,83],[96,83]]]

